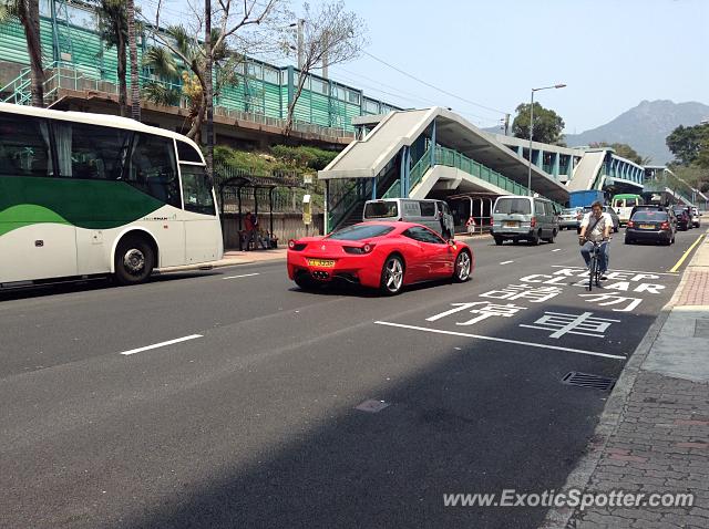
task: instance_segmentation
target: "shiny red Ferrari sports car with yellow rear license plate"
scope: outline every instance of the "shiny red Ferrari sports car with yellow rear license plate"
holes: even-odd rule
[[[467,245],[412,222],[361,222],[288,242],[288,277],[302,289],[345,280],[393,295],[420,281],[466,281],[474,262]]]

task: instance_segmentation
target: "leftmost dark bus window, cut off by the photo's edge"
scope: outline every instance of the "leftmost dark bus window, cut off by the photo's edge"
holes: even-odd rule
[[[47,122],[0,114],[0,175],[51,176],[52,173]]]

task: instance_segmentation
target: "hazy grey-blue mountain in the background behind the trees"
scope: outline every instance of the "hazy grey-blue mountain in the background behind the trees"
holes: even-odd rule
[[[664,165],[672,160],[665,138],[679,125],[693,126],[707,118],[709,106],[701,103],[644,101],[605,125],[580,134],[566,134],[564,141],[569,147],[597,142],[626,143],[640,156],[649,156],[651,165]]]

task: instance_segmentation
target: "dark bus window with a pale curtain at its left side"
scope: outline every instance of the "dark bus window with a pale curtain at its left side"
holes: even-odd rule
[[[53,122],[52,128],[60,176],[100,180],[121,178],[130,132],[60,121]]]

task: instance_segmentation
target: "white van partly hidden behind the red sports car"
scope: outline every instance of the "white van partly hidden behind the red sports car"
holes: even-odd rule
[[[451,239],[455,232],[453,215],[443,200],[412,198],[367,200],[362,220],[417,222],[441,234],[444,239]]]

